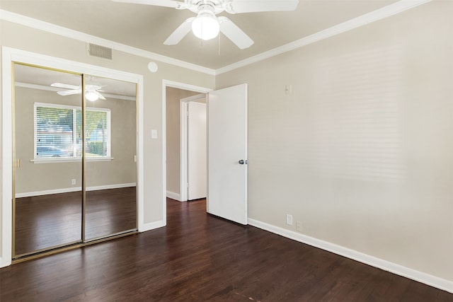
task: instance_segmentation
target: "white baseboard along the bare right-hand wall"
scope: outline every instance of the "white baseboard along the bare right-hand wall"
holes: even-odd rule
[[[453,281],[435,277],[424,272],[419,272],[415,269],[404,267],[403,265],[397,265],[396,263],[382,260],[377,257],[364,254],[362,252],[357,252],[356,250],[350,250],[349,248],[345,248],[340,245],[329,243],[324,240],[319,240],[294,231],[289,231],[285,228],[273,226],[271,224],[255,219],[249,218],[248,224],[250,224],[251,226],[256,226],[257,228],[261,228],[265,231],[269,231],[271,233],[275,233],[277,235],[314,246],[316,248],[321,248],[322,250],[327,250],[328,252],[333,252],[343,257],[348,257],[352,260],[365,263],[366,265],[371,265],[372,267],[377,267],[379,269],[383,269],[384,271],[398,274],[408,279],[413,279],[429,286],[436,287],[437,289],[442,289],[443,291],[453,293]]]

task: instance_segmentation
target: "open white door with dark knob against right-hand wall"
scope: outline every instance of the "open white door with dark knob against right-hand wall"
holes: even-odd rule
[[[207,212],[247,224],[247,84],[209,93]]]

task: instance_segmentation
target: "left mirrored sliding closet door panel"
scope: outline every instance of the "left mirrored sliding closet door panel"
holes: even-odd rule
[[[59,95],[55,81],[81,76],[14,64],[16,167],[13,256],[81,241],[81,161],[69,161],[81,95]]]

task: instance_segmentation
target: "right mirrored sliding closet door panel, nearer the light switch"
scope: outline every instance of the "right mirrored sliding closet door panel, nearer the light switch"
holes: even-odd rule
[[[137,229],[136,84],[86,76],[86,240]]]

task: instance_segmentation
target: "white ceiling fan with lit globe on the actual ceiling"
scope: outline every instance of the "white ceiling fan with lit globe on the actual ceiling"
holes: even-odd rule
[[[196,13],[179,25],[178,28],[165,40],[165,45],[176,45],[190,30],[202,40],[211,40],[217,37],[219,31],[234,42],[241,50],[251,47],[251,40],[246,33],[225,16],[216,15],[226,13],[254,13],[260,11],[294,11],[299,0],[113,0],[132,4],[148,4],[165,6],[176,9],[188,9]]]

